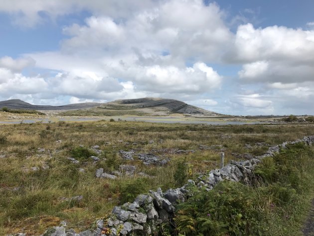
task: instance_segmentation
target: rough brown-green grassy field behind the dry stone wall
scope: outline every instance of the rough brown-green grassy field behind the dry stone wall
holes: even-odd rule
[[[101,120],[0,125],[0,235],[22,229],[39,235],[62,220],[82,231],[130,196],[178,186],[173,176],[182,160],[192,179],[219,166],[221,149],[226,162],[243,160],[313,130],[314,124],[302,123],[210,126]],[[102,151],[98,162],[90,158],[96,156],[95,145]],[[137,158],[122,159],[119,150],[131,149],[170,161],[147,166]],[[176,149],[194,152],[175,154]],[[135,174],[115,180],[95,177],[98,168],[114,174],[122,164],[135,165]],[[83,199],[71,200],[75,196]]]

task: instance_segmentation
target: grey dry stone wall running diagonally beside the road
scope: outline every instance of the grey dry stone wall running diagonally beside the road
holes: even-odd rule
[[[255,166],[261,159],[273,156],[287,144],[304,142],[308,145],[314,143],[314,136],[304,137],[293,142],[285,142],[281,145],[272,146],[262,156],[250,160],[235,162],[231,161],[221,169],[215,169],[206,175],[199,176],[195,181],[189,180],[186,185],[177,189],[169,189],[162,193],[161,189],[156,192],[139,195],[133,203],[126,203],[114,207],[111,216],[95,222],[90,230],[75,233],[73,229],[66,230],[66,226],[48,229],[43,236],[127,236],[127,235],[155,235],[162,224],[171,224],[175,203],[185,201],[188,198],[188,185],[205,187],[210,191],[223,180],[247,182]],[[19,236],[25,236],[19,234]]]

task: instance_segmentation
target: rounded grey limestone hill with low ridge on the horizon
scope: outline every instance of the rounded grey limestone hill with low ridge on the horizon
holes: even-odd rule
[[[24,109],[24,110],[77,110],[72,115],[170,115],[174,113],[185,115],[201,115],[201,116],[216,116],[218,113],[208,111],[196,106],[186,104],[185,102],[175,99],[166,98],[137,98],[137,99],[121,99],[107,103],[87,102],[76,103],[62,106],[50,105],[32,105],[19,99],[11,99],[0,101],[0,108],[7,107],[9,109]],[[70,114],[70,113],[69,113]]]

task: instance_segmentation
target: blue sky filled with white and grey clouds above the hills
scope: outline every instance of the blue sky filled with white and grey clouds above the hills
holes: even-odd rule
[[[313,0],[0,0],[0,100],[314,115]]]

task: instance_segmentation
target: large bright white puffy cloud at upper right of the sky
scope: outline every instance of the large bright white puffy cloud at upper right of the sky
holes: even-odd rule
[[[250,23],[240,25],[234,49],[226,59],[237,62],[284,60],[310,63],[314,60],[314,31],[269,26],[255,29]]]

